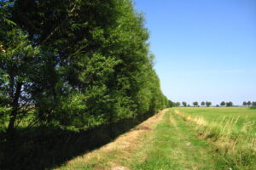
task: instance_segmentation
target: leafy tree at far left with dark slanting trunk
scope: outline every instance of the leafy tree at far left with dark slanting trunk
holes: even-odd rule
[[[2,121],[9,121],[8,137],[11,138],[18,117],[24,117],[33,104],[31,94],[32,79],[38,77],[39,48],[32,47],[27,35],[16,24],[5,18],[1,8],[0,18],[0,101],[3,108]],[[1,118],[0,117],[0,118]]]

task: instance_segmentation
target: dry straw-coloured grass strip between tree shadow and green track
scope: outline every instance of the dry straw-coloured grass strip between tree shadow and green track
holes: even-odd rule
[[[142,122],[131,131],[124,133],[113,142],[98,150],[85,153],[71,161],[67,161],[55,170],[128,170],[133,154],[137,148],[143,147],[143,140],[148,139],[150,132],[165,116],[166,111],[160,111],[148,120]]]

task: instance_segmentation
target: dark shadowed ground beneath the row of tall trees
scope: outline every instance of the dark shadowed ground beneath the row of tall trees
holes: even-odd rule
[[[59,167],[76,156],[108,144],[152,115],[148,113],[80,132],[53,127],[17,129],[12,144],[0,141],[0,169],[43,170]],[[3,134],[0,134],[2,137]]]

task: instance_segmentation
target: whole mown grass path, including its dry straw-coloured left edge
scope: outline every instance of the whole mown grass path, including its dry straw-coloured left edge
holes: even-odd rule
[[[58,169],[230,170],[212,145],[198,139],[193,127],[173,111],[150,118],[113,143]]]

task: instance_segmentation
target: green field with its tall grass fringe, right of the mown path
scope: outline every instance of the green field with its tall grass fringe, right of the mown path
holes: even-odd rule
[[[211,139],[232,169],[255,168],[256,112],[247,108],[181,108],[177,115],[193,122],[202,139]]]

